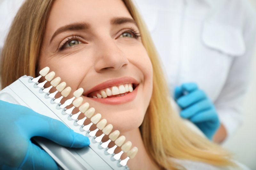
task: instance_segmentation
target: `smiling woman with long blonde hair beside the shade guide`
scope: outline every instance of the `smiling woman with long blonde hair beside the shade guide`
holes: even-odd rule
[[[45,66],[73,90],[83,87],[84,100],[138,147],[130,169],[233,165],[228,152],[186,128],[172,111],[154,45],[130,0],[28,0],[14,19],[1,63],[3,88]],[[127,83],[133,85],[127,95],[93,98]]]

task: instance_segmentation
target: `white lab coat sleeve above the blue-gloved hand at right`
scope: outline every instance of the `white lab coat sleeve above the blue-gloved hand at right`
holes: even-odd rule
[[[243,121],[243,100],[251,78],[252,56],[255,54],[256,15],[249,4],[245,9],[243,36],[246,51],[243,56],[235,56],[228,78],[214,104],[227,131],[227,138],[232,135]]]

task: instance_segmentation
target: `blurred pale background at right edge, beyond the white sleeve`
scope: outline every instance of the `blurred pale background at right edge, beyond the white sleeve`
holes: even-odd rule
[[[256,10],[256,0],[250,1]],[[256,170],[256,53],[254,54],[252,82],[244,101],[244,123],[234,136],[223,143],[225,148],[235,154],[237,160],[252,170]]]

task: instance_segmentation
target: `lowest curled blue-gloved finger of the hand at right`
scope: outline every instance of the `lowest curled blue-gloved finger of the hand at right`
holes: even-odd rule
[[[209,109],[192,116],[189,120],[193,123],[200,123],[206,121],[218,122],[219,118],[215,109]]]

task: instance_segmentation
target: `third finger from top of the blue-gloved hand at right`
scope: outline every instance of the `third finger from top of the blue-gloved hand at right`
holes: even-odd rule
[[[212,102],[210,100],[205,99],[205,100],[199,101],[196,104],[182,110],[180,112],[180,116],[187,119],[187,118],[190,118],[191,116],[197,114],[198,112],[201,112],[206,109],[210,109],[211,107],[213,107]]]

